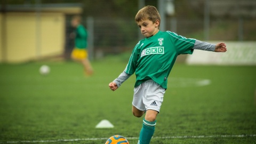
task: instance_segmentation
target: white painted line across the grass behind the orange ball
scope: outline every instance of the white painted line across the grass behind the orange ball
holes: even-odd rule
[[[241,134],[241,135],[184,135],[184,136],[171,136],[171,137],[153,137],[152,139],[189,139],[189,138],[245,138],[256,137],[256,134]],[[44,142],[73,142],[73,141],[97,141],[107,140],[108,138],[86,138],[86,139],[58,139],[58,140],[33,140],[33,141],[5,141],[0,143],[44,143]],[[139,139],[138,137],[127,137],[129,139]]]

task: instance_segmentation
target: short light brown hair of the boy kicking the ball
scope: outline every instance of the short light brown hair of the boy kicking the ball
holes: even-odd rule
[[[159,20],[159,23],[160,23],[161,17],[155,6],[148,5],[140,9],[135,16],[135,22],[139,22],[142,20],[150,20],[153,23],[155,23],[156,20]]]

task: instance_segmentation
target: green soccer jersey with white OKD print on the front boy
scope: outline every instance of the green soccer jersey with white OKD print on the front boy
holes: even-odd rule
[[[192,54],[195,39],[179,36],[171,31],[158,31],[142,39],[134,47],[125,73],[135,73],[134,87],[148,79],[167,89],[167,78],[179,54]]]

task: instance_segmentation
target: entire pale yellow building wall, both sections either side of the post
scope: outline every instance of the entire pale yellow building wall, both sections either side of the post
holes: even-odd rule
[[[39,20],[39,21],[38,21]],[[62,13],[6,14],[6,62],[24,62],[61,54],[65,41]]]

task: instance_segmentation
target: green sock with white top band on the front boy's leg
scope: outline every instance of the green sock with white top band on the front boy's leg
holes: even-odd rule
[[[155,132],[155,125],[156,121],[154,122],[148,122],[143,119],[142,129],[140,131],[140,144],[149,144],[151,137],[153,136]]]

